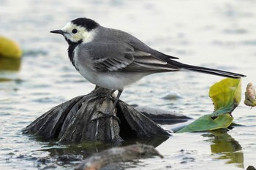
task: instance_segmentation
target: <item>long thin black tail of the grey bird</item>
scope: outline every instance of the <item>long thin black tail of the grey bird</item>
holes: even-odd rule
[[[188,64],[184,64],[184,63],[179,63],[179,64],[181,64],[179,66],[181,69],[186,69],[186,70],[190,70],[190,71],[194,71],[194,72],[214,74],[214,75],[223,76],[223,77],[230,77],[230,78],[233,78],[233,79],[239,79],[241,77],[246,77],[246,75],[244,75],[244,74],[226,72],[226,71],[222,71],[222,70],[219,70],[219,69],[210,69],[210,68],[206,68],[206,67],[203,67],[203,66],[191,66],[191,65],[188,65]]]

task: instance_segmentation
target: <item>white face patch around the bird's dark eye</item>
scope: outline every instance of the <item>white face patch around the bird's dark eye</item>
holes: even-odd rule
[[[61,30],[64,31],[64,36],[71,42],[79,42],[80,40],[83,43],[91,42],[96,33],[95,30],[87,31],[83,26],[77,26],[74,23],[67,23]]]

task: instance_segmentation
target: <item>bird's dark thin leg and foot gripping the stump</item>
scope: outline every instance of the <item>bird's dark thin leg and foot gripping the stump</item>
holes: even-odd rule
[[[111,92],[112,93],[114,93],[116,90],[112,90]],[[123,90],[118,90],[118,94],[117,94],[117,96],[116,96],[116,98],[115,98],[115,101],[114,101],[114,103],[113,103],[113,107],[111,107],[111,109],[110,109],[110,112],[108,112],[108,113],[105,113],[105,112],[102,112],[102,111],[98,111],[98,113],[100,113],[100,114],[102,114],[102,116],[101,117],[97,117],[97,118],[95,118],[95,119],[93,119],[93,120],[91,120],[91,121],[95,121],[95,120],[99,120],[99,119],[102,119],[102,118],[110,118],[110,117],[113,117],[114,119],[116,119],[117,121],[118,121],[118,123],[120,123],[120,120],[119,120],[119,118],[116,116],[116,115],[114,115],[114,109],[116,108],[116,104],[117,104],[117,102],[118,102],[118,100],[119,100],[119,98],[120,98],[120,96],[121,96],[121,93],[123,92]],[[110,95],[112,95],[112,93],[110,93]],[[104,125],[105,123],[103,123],[103,125]]]

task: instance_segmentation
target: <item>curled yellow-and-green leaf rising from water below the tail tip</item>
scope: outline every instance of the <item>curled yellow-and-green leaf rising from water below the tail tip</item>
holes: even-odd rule
[[[211,86],[209,96],[214,102],[214,112],[199,117],[177,133],[227,128],[233,122],[231,112],[241,101],[241,80],[227,78],[217,82]]]

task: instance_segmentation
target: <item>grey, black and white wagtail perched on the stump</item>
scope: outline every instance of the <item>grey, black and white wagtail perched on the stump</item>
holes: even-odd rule
[[[244,74],[192,66],[178,62],[178,58],[161,53],[131,34],[99,25],[90,18],[76,18],[61,29],[67,41],[68,57],[75,69],[89,82],[101,88],[116,90],[116,107],[127,85],[141,78],[162,72],[193,71],[239,79]]]

